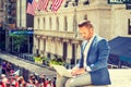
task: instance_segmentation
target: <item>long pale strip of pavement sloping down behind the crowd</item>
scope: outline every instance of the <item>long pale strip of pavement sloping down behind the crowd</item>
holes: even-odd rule
[[[28,71],[37,73],[38,75],[45,74],[47,76],[56,76],[56,72],[47,66],[26,61],[9,53],[0,53],[0,59],[9,61],[21,67],[27,69]]]

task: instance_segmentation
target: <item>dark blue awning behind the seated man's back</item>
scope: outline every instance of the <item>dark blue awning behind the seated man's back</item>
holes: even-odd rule
[[[116,37],[109,41],[110,55],[109,62],[131,63],[131,37]]]

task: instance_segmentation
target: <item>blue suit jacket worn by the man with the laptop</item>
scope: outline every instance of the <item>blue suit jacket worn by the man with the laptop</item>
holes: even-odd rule
[[[79,67],[83,67],[83,51],[85,45],[81,47],[81,60]],[[107,70],[107,61],[109,55],[108,42],[99,37],[95,36],[88,50],[86,63],[91,67],[91,77],[93,85],[109,85],[110,78]]]

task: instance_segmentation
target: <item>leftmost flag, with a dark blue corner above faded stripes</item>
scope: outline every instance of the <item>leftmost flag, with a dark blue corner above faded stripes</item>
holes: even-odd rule
[[[35,15],[35,10],[37,9],[37,2],[35,0],[27,0],[26,13]]]

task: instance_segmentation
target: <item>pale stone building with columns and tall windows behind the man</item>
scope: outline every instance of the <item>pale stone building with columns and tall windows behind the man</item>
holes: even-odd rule
[[[82,42],[78,34],[78,22],[87,18],[96,34],[110,40],[117,36],[130,37],[131,11],[124,4],[108,4],[107,0],[79,1],[78,5],[66,1],[57,13],[36,11],[34,17],[34,53],[48,58],[59,57],[71,63],[80,59]]]

